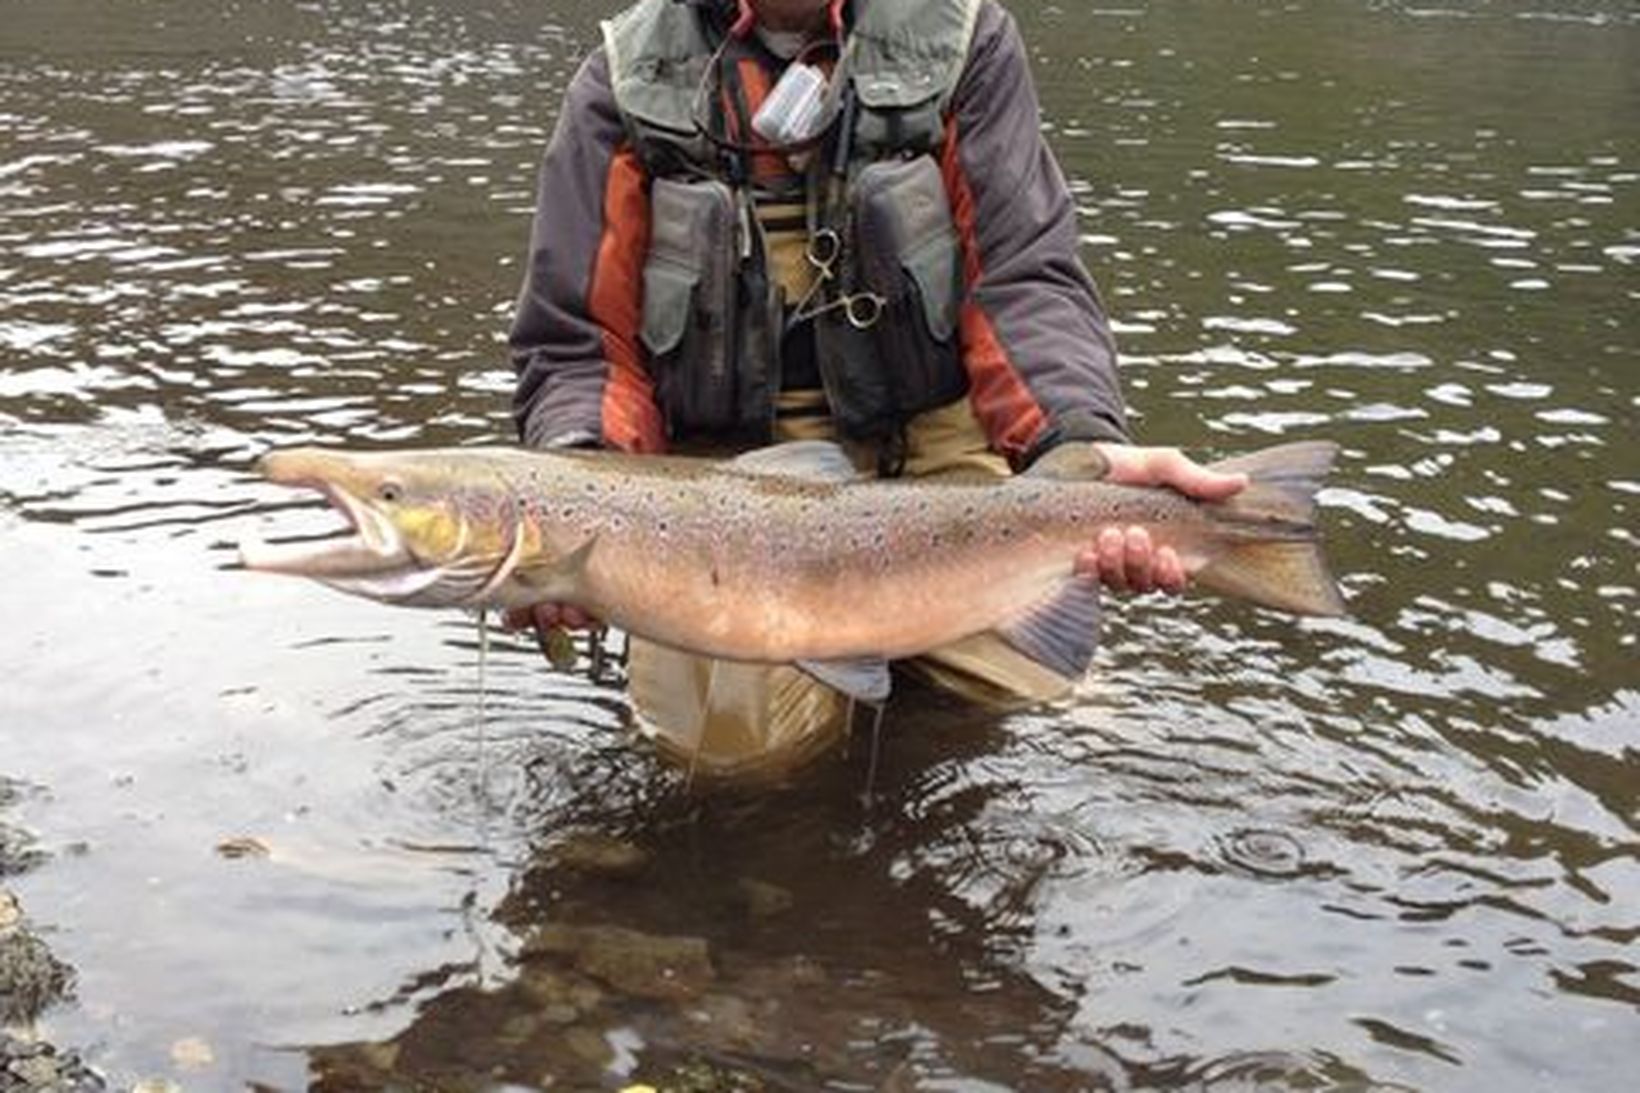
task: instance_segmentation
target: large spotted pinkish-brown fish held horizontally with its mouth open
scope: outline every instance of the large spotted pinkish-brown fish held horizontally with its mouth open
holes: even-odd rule
[[[1053,453],[1005,481],[861,481],[820,441],[728,463],[302,448],[264,456],[262,474],[321,489],[356,535],[241,555],[385,602],[569,602],[730,660],[892,660],[1051,614],[1086,584],[1073,563],[1112,524],[1148,528],[1207,588],[1340,614],[1314,522],[1335,453],[1305,441],[1227,460],[1217,469],[1248,473],[1248,489],[1204,504],[1064,473]]]

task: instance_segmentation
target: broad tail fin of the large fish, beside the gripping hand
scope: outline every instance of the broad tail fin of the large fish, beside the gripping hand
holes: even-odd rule
[[[1248,486],[1210,505],[1228,532],[1223,553],[1196,579],[1217,592],[1301,615],[1345,614],[1343,594],[1327,569],[1315,528],[1315,491],[1332,471],[1338,445],[1307,440],[1212,464],[1248,476]]]

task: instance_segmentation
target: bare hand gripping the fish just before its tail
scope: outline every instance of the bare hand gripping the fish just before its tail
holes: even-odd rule
[[[1246,474],[1209,471],[1178,448],[1138,448],[1096,443],[1110,461],[1107,482],[1118,486],[1171,486],[1197,501],[1223,501],[1246,486]],[[1141,527],[1107,527],[1076,558],[1076,571],[1097,576],[1118,592],[1182,592],[1191,574],[1173,546],[1156,546]]]

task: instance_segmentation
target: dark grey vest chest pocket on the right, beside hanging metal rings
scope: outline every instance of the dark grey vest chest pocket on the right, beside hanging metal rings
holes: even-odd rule
[[[859,172],[854,246],[864,287],[887,300],[872,333],[900,415],[959,397],[968,389],[956,341],[961,251],[932,156]]]

